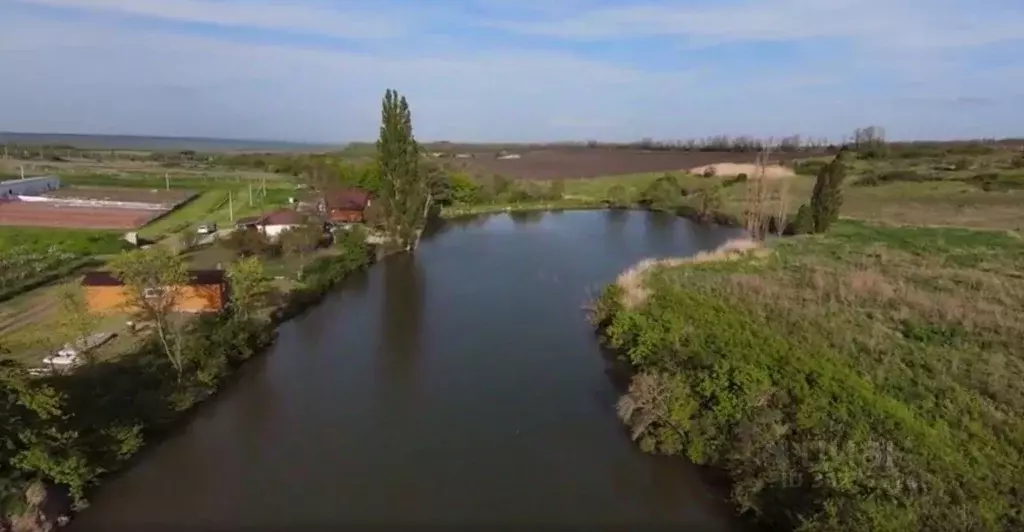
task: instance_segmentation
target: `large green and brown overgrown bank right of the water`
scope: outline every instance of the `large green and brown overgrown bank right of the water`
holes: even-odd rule
[[[771,248],[598,301],[640,445],[785,529],[1024,527],[1024,240],[841,222]]]

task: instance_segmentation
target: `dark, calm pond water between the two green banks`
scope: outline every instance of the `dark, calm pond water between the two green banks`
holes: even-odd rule
[[[583,310],[630,264],[731,234],[640,212],[450,223],[282,326],[72,529],[735,529],[721,490],[629,441]]]

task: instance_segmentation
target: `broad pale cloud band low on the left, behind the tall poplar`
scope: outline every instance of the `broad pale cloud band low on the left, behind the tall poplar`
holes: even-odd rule
[[[371,138],[379,99],[396,87],[427,138],[561,137],[579,132],[552,128],[552,112],[621,122],[637,108],[623,101],[669,101],[693,81],[559,53],[389,57],[42,19],[19,26],[8,42],[23,44],[0,47],[0,69],[18,72],[0,85],[0,115],[18,130]]]

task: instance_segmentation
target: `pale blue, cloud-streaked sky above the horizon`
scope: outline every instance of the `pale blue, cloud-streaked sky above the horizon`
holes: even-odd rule
[[[1024,136],[1021,0],[0,0],[0,130]]]

